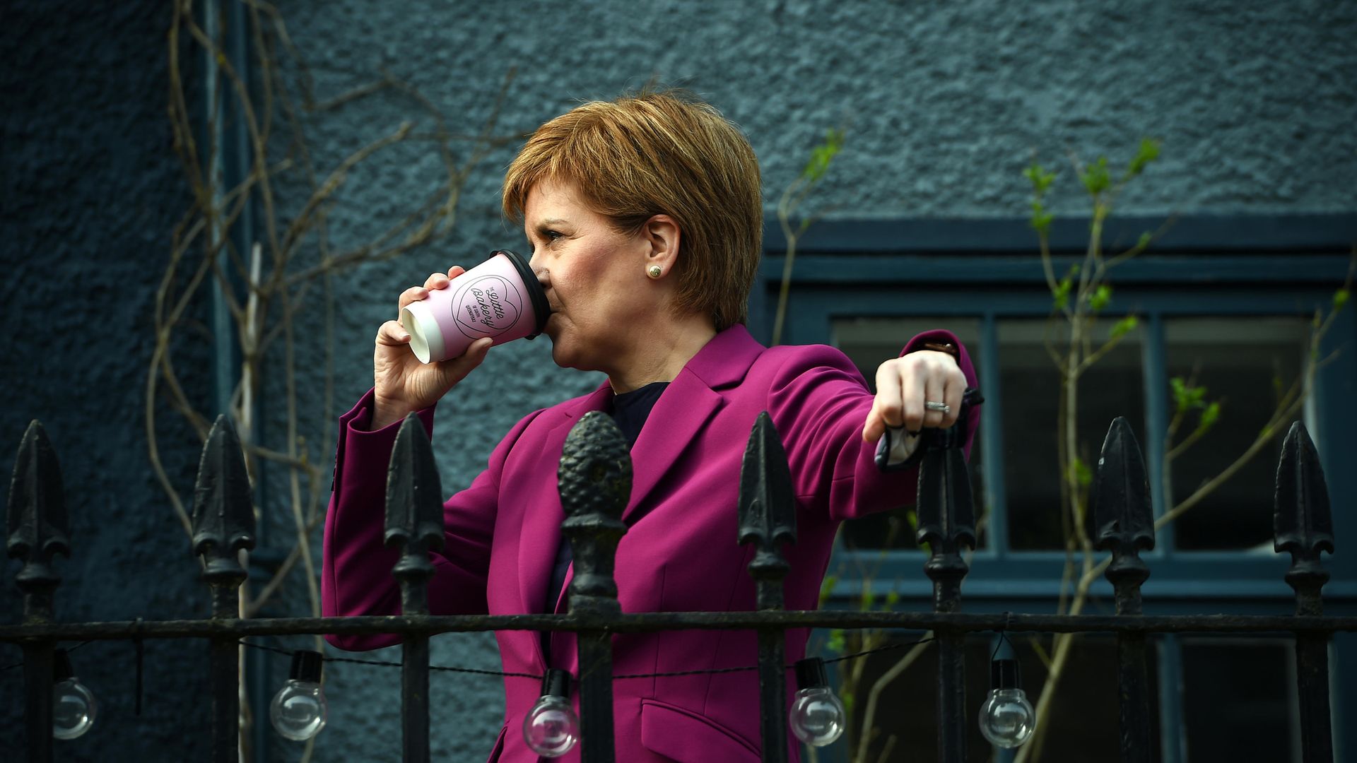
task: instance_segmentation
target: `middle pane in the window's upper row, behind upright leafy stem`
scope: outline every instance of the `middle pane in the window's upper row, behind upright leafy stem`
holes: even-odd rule
[[[1060,371],[1046,352],[1045,319],[999,323],[999,373],[1003,390],[1004,487],[1008,505],[1008,544],[1015,550],[1065,547],[1057,447]],[[1095,327],[1106,339],[1110,323]],[[1095,345],[1096,346],[1096,345]],[[1126,417],[1144,443],[1145,402],[1139,333],[1128,334],[1115,349],[1084,372],[1079,383],[1079,458],[1088,468],[1107,428]],[[1092,527],[1092,512],[1088,527]]]

